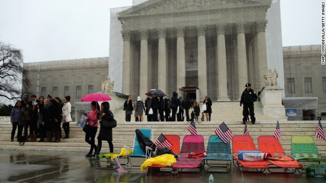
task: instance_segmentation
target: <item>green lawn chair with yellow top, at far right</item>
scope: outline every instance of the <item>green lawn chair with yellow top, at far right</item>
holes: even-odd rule
[[[309,135],[294,135],[291,137],[292,158],[297,161],[326,162],[320,158],[314,139]]]

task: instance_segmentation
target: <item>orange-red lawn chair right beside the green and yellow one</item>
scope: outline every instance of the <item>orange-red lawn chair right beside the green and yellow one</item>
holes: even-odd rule
[[[273,168],[282,168],[285,173],[294,173],[297,169],[302,168],[302,165],[299,162],[285,156],[281,143],[274,136],[259,136],[258,146],[260,152],[269,153],[272,157],[277,157],[267,159],[269,163],[274,165],[274,167],[268,168],[270,173],[274,173],[270,171]],[[288,172],[288,168],[294,168],[294,171]]]

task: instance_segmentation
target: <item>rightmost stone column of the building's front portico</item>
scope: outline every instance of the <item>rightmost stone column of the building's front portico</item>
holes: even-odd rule
[[[257,63],[258,63],[258,86],[256,90],[260,91],[265,86],[263,75],[268,72],[267,69],[267,51],[266,51],[266,29],[267,20],[255,22],[256,34],[257,34]]]

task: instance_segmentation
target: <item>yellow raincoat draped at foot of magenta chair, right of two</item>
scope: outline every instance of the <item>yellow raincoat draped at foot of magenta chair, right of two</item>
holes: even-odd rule
[[[141,166],[141,171],[143,172],[143,169],[146,171],[148,170],[148,166],[151,165],[167,165],[167,166],[172,166],[177,160],[174,158],[174,155],[170,154],[165,154],[165,155],[160,155],[155,158],[149,158],[147,159]]]

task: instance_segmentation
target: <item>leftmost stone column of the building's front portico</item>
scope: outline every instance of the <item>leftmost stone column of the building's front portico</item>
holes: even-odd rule
[[[123,61],[122,61],[122,93],[130,95],[130,31],[121,31],[123,38]]]

